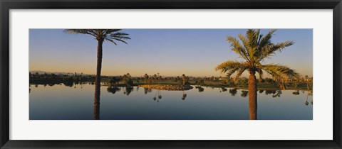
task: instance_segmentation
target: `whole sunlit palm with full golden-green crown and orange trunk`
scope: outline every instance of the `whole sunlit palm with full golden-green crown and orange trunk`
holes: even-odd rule
[[[257,78],[256,72],[262,78],[264,72],[269,73],[281,89],[285,89],[284,82],[291,78],[298,78],[299,74],[289,67],[275,64],[261,64],[265,58],[274,56],[277,51],[281,51],[290,45],[292,41],[282,43],[271,43],[271,37],[276,30],[271,30],[266,35],[261,35],[260,30],[249,29],[246,35],[239,35],[239,39],[232,36],[227,37],[231,44],[232,51],[237,53],[244,62],[227,60],[217,65],[215,70],[222,73],[227,72],[227,78],[230,78],[234,72],[237,72],[235,79],[239,79],[244,71],[249,72],[248,96],[249,96],[249,119],[257,119]],[[241,43],[240,43],[241,42]]]

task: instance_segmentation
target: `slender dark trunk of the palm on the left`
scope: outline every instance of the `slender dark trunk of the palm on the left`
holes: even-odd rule
[[[98,40],[98,59],[96,64],[96,77],[95,77],[95,96],[94,96],[94,109],[93,118],[100,119],[100,82],[101,82],[101,67],[102,67],[102,44],[103,40]]]

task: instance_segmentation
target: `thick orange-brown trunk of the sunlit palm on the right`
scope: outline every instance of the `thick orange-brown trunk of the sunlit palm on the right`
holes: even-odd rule
[[[257,78],[255,72],[249,72],[248,79],[249,119],[257,120]]]

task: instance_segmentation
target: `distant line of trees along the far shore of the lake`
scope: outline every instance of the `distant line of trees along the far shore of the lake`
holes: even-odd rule
[[[30,84],[66,84],[72,87],[73,84],[94,84],[95,75],[84,75],[78,73],[68,73],[66,75],[43,73],[38,72],[29,73]],[[312,89],[312,77],[301,77],[300,79],[287,80],[284,82],[286,87],[293,89]],[[239,87],[247,88],[248,79],[245,77],[233,79],[232,77],[192,77],[182,74],[176,77],[164,77],[159,73],[154,75],[142,75],[141,77],[133,77],[130,73],[120,76],[102,76],[101,84],[109,87],[133,87],[140,84],[182,84],[182,85],[197,85],[197,86],[210,86],[210,87]],[[258,79],[257,84],[267,87],[277,87],[278,82],[271,78]]]

